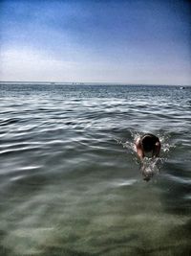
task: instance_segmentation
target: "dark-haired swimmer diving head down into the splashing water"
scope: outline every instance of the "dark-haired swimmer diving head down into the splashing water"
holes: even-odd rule
[[[158,157],[161,144],[159,138],[151,133],[146,133],[136,141],[136,149],[139,159],[142,161],[145,154],[151,154],[152,157]]]

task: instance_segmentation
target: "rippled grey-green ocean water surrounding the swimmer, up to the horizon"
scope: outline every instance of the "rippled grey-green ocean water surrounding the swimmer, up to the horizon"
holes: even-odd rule
[[[0,255],[191,255],[190,110],[191,87],[1,83]]]

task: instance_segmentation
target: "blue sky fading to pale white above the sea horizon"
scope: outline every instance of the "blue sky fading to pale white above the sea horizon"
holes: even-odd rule
[[[184,0],[0,0],[0,81],[191,84]]]

